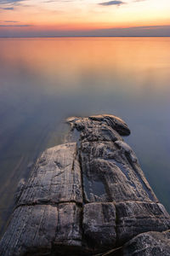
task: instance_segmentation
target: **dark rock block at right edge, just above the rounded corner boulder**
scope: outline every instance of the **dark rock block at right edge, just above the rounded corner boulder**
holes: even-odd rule
[[[145,231],[169,228],[169,215],[160,203],[126,201],[116,203],[119,245]]]

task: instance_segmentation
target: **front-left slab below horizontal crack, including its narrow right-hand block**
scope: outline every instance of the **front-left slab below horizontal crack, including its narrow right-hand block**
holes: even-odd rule
[[[82,247],[80,212],[75,203],[16,208],[0,255],[51,255],[59,245]]]

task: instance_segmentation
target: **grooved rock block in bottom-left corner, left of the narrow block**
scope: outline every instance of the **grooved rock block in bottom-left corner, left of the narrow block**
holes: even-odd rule
[[[1,241],[0,255],[50,253],[57,224],[57,207],[35,205],[16,208]]]

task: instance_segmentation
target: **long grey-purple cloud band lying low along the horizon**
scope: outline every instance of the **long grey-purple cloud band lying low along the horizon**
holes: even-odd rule
[[[2,21],[3,22],[3,21]],[[10,25],[10,24],[9,24]],[[17,25],[17,24],[16,24]],[[22,25],[23,26],[23,25]],[[30,25],[24,25],[30,26]],[[124,28],[97,29],[87,31],[42,30],[38,26],[0,27],[0,38],[3,37],[170,37],[170,26],[136,26]],[[32,27],[32,29],[31,29]]]

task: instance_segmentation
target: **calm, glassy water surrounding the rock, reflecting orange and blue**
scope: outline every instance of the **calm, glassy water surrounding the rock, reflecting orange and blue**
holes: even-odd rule
[[[20,177],[70,115],[113,113],[170,212],[170,38],[0,39],[0,224]]]

